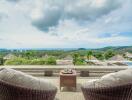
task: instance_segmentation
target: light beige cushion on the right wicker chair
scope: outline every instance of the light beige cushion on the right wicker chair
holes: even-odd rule
[[[130,82],[132,82],[132,69],[127,69],[127,70],[122,70],[119,72],[104,75],[98,80],[85,83],[83,87],[85,88],[110,87],[110,86],[123,85]]]

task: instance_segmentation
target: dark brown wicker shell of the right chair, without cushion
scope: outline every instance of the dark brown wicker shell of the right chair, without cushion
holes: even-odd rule
[[[81,88],[85,100],[132,100],[132,83],[113,87]]]

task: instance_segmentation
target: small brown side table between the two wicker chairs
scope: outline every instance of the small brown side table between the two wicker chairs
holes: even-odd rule
[[[64,74],[63,70],[60,71],[60,90],[61,87],[74,87],[76,89],[76,71],[72,70],[72,74]]]

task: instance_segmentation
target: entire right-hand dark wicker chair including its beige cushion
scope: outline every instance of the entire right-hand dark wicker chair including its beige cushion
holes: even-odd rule
[[[132,100],[132,69],[104,75],[81,88],[85,100]]]

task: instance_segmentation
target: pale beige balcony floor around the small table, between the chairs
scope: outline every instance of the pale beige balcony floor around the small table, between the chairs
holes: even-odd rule
[[[40,77],[44,79],[43,77]],[[98,79],[97,77],[77,77],[77,90],[74,88],[62,88],[59,90],[59,77],[46,77],[48,81],[55,84],[58,88],[55,100],[84,100],[84,96],[81,92],[81,84]]]

